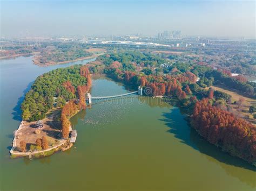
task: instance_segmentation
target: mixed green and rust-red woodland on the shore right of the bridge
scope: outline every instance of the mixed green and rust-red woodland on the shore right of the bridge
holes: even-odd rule
[[[208,142],[255,164],[255,125],[246,122],[246,117],[239,115],[241,112],[232,112],[228,105],[231,95],[207,88],[212,84],[225,84],[239,93],[255,97],[255,83],[247,82],[244,77],[232,77],[226,70],[193,62],[170,64],[167,59],[139,52],[106,54],[87,66],[91,73],[106,74],[134,88],[142,86],[146,95],[175,98],[190,116],[191,126]],[[204,109],[197,111],[198,105],[206,101]],[[234,103],[238,107],[240,104],[242,98]]]

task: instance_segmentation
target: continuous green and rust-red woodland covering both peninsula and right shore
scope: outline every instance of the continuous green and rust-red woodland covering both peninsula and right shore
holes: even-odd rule
[[[254,100],[255,83],[242,76],[232,77],[227,70],[192,61],[172,63],[157,55],[126,51],[99,56],[86,66],[53,70],[39,76],[26,94],[22,104],[23,119],[35,121],[44,118],[53,104],[62,107],[61,132],[62,138],[67,139],[69,118],[86,108],[85,94],[91,87],[90,73],[105,74],[134,89],[142,86],[148,96],[176,100],[199,135],[231,155],[255,164],[255,125],[242,112],[233,109],[233,106],[241,108],[243,98],[232,106],[232,95],[213,87],[225,85]]]

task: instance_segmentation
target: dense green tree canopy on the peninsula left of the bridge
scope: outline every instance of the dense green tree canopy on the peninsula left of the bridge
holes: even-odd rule
[[[23,120],[37,121],[45,117],[53,104],[62,107],[67,101],[82,97],[85,91],[81,89],[87,86],[89,71],[84,74],[80,70],[83,71],[83,66],[75,65],[55,69],[37,77],[22,103]],[[80,104],[84,107],[84,103]]]

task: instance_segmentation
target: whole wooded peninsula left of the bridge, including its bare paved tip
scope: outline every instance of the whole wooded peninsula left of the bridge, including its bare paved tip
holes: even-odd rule
[[[26,155],[30,151],[29,154],[42,155],[59,146],[71,147],[66,144],[72,130],[69,118],[86,108],[85,94],[90,87],[89,69],[83,65],[56,69],[39,76],[22,103],[23,122],[15,133],[16,144],[11,152]],[[39,119],[42,119],[40,129],[34,122]]]

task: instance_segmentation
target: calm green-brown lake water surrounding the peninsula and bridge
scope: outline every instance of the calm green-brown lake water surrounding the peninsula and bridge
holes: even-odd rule
[[[93,103],[71,118],[71,150],[43,159],[10,159],[24,94],[38,75],[31,57],[0,61],[0,190],[255,190],[256,171],[191,130],[178,108],[131,95]],[[127,92],[109,79],[93,80],[93,96]]]

